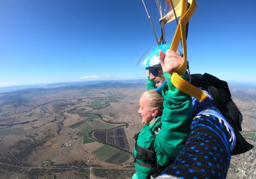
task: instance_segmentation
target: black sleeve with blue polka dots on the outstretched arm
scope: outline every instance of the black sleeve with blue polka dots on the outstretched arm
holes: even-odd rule
[[[230,133],[219,118],[196,116],[184,149],[157,178],[226,178],[230,164],[229,139]]]

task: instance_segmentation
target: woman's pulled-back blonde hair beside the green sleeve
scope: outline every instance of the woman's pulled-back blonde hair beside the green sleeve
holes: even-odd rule
[[[158,109],[160,113],[163,112],[163,97],[155,89],[145,91],[142,96],[147,99],[150,109]]]

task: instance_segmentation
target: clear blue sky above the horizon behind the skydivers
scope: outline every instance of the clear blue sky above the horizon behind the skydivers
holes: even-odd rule
[[[145,0],[158,35],[156,3]],[[191,73],[256,83],[256,1],[198,0],[189,24]],[[140,0],[1,0],[0,87],[88,79],[145,79],[156,45]],[[166,26],[172,41],[175,23]]]

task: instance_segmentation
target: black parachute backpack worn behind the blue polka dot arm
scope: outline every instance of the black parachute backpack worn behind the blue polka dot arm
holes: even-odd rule
[[[243,115],[231,98],[232,95],[227,82],[205,73],[204,75],[191,74],[191,84],[202,87],[210,93],[216,107],[221,111],[230,126],[234,128],[236,146],[231,155],[238,155],[251,150],[253,145],[248,143],[239,132],[242,130]]]

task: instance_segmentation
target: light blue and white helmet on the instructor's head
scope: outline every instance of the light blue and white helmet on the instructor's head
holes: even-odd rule
[[[169,43],[165,43],[149,49],[141,57],[139,61],[139,65],[145,68],[146,70],[148,70],[148,68],[150,67],[161,67],[161,63],[159,59],[159,50],[165,53],[168,49],[170,49]]]

